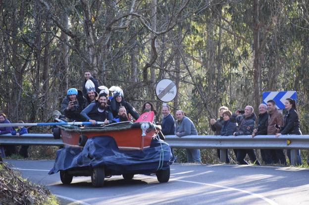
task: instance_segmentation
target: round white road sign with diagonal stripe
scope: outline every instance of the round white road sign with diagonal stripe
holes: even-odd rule
[[[176,84],[169,79],[162,79],[156,83],[155,94],[162,102],[172,101],[177,94]]]

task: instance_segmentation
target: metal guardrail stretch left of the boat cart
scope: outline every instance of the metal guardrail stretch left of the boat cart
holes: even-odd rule
[[[1,134],[0,145],[62,146],[63,142],[61,139],[54,139],[52,134],[23,134],[19,137],[11,134]]]

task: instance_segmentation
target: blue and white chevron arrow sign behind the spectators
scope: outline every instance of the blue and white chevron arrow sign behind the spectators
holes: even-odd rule
[[[297,100],[296,91],[268,91],[263,92],[262,99],[263,103],[267,104],[268,100],[273,100],[276,103],[278,109],[285,109],[285,99],[292,98]]]

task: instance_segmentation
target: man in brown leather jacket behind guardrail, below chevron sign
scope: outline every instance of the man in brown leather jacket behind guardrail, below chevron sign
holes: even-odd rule
[[[268,126],[267,126],[267,134],[274,135],[279,132],[275,125],[283,126],[283,115],[276,108],[276,103],[273,100],[267,101],[267,110],[268,110]],[[274,164],[286,164],[285,154],[282,149],[275,150],[264,150],[265,157],[267,159],[271,159],[271,162]]]

